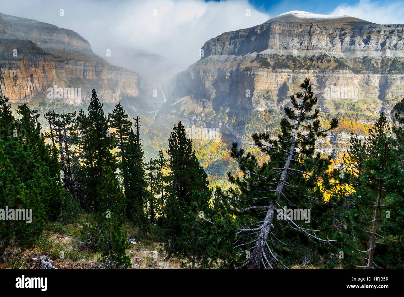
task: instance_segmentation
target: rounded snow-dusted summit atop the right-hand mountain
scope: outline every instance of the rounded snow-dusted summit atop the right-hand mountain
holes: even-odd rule
[[[273,17],[270,22],[317,23],[321,25],[370,25],[368,21],[347,15],[318,15],[307,11],[289,11]]]

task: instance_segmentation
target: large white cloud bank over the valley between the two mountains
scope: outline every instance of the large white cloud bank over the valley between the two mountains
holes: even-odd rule
[[[64,17],[59,17],[60,8]],[[199,59],[200,48],[210,38],[269,19],[247,0],[15,0],[2,4],[1,12],[72,29],[102,56],[107,48],[133,46],[173,59],[183,69]]]

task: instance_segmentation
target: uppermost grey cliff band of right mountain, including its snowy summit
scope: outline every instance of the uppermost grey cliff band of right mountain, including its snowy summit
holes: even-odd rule
[[[404,25],[378,25],[353,17],[290,12],[269,21],[208,40],[202,50],[211,55],[248,53],[297,54],[319,53],[337,57],[404,57]],[[202,59],[204,58],[202,57]]]

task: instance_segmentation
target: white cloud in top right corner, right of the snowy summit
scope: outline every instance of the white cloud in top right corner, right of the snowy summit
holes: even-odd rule
[[[355,5],[341,4],[330,14],[338,15],[343,9],[344,15],[364,19],[378,24],[402,24],[404,23],[404,1],[375,2],[360,0]]]

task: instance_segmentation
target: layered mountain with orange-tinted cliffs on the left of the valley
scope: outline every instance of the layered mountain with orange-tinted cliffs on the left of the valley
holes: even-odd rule
[[[81,88],[79,96],[54,91],[51,99],[78,104],[95,88],[105,102],[122,99],[155,110],[151,86],[137,73],[112,65],[76,32],[0,13],[0,95],[11,102],[49,99],[48,88]],[[65,96],[67,95],[67,96]],[[78,91],[76,91],[78,95]]]

